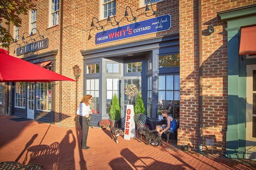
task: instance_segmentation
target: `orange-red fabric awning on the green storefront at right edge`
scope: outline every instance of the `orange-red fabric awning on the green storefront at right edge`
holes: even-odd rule
[[[256,26],[241,28],[239,55],[256,54]]]

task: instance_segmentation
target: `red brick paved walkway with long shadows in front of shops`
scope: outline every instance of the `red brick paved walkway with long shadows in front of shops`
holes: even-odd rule
[[[0,115],[0,162],[40,163],[45,170],[256,170],[254,161],[182,151],[175,140],[153,146],[119,136],[116,144],[101,128],[89,128],[91,148],[82,150],[81,132],[80,127]]]

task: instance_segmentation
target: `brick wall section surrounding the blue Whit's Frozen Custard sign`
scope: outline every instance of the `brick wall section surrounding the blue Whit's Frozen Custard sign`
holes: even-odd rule
[[[152,7],[153,7],[153,10],[157,12],[156,16],[161,16],[161,15],[165,15],[165,14],[170,14],[172,16],[172,28],[170,28],[169,31],[154,33],[154,34],[147,34],[144,36],[129,38],[126,40],[120,40],[120,41],[116,41],[116,42],[110,42],[110,43],[96,45],[95,44],[95,35],[97,32],[102,32],[103,30],[97,30],[95,28],[92,29],[92,27],[91,27],[92,18],[93,17],[98,18],[101,26],[105,26],[107,24],[107,19],[100,20],[99,6],[100,6],[100,1],[94,0],[93,2],[88,4],[87,9],[90,9],[90,10],[86,10],[86,16],[87,16],[86,17],[86,25],[85,25],[86,40],[88,40],[89,33],[92,36],[92,38],[90,40],[86,41],[86,46],[85,46],[86,50],[108,47],[108,46],[113,46],[113,45],[120,45],[120,44],[130,43],[130,42],[138,42],[138,41],[148,40],[148,39],[152,39],[152,38],[156,38],[156,37],[161,37],[161,36],[166,36],[169,34],[178,33],[178,31],[179,31],[178,1],[177,0],[163,1],[163,2],[154,3],[152,5]],[[131,1],[116,0],[116,17],[115,17],[116,21],[119,22],[122,18],[124,18],[126,6],[130,6],[130,8],[132,9],[133,16],[137,17],[137,20],[136,20],[137,22],[156,17],[156,16],[152,15],[153,12],[151,10],[151,6],[149,6],[150,10],[147,11],[145,14],[144,13],[145,7],[140,7],[139,0],[131,0]],[[133,18],[132,18],[130,9],[127,8],[127,11],[129,14],[129,16],[127,16],[128,20],[131,21]],[[111,18],[111,20],[112,20],[113,24],[115,24],[114,18]],[[131,24],[131,23],[135,22],[135,21],[131,21],[131,22],[129,22],[129,21],[127,21],[127,19],[123,19],[120,22],[119,26],[124,26],[124,25]],[[94,19],[93,22],[94,22],[94,26],[99,27],[96,19]],[[118,26],[112,26],[109,23],[104,27],[104,30],[109,30],[109,29],[116,28],[116,27],[118,27]],[[100,29],[100,28],[98,28],[98,29]]]

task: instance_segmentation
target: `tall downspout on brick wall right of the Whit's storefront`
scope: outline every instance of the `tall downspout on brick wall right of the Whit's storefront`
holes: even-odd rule
[[[198,0],[198,153],[202,153],[202,13]]]

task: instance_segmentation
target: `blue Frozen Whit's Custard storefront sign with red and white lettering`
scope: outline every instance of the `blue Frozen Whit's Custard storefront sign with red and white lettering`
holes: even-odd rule
[[[95,43],[107,43],[145,34],[167,31],[171,28],[171,16],[169,14],[135,22],[111,30],[98,32],[95,35]]]

